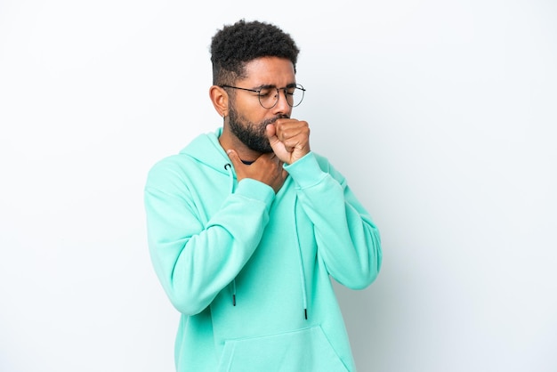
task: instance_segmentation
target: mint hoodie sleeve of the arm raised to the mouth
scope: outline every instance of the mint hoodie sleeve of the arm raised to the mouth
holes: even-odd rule
[[[344,177],[327,161],[322,163],[323,168],[310,152],[285,169],[295,180],[298,199],[314,224],[318,255],[327,271],[343,286],[362,289],[381,269],[379,230]]]

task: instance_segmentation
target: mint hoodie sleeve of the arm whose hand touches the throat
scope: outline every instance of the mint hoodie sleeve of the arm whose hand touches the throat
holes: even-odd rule
[[[262,238],[275,194],[242,180],[208,222],[199,217],[183,175],[165,166],[149,172],[144,193],[149,254],[174,307],[203,311],[236,278]],[[241,215],[242,218],[238,218]]]

